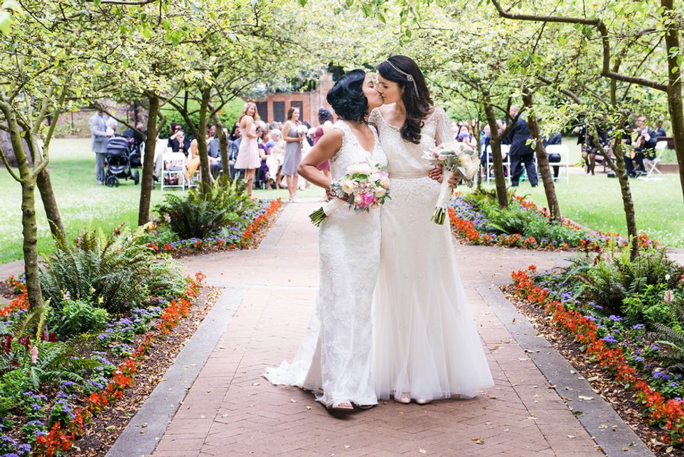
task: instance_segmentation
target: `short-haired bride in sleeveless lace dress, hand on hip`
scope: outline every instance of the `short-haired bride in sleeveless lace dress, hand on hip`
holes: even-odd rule
[[[329,160],[333,180],[365,161],[387,165],[376,131],[366,118],[382,106],[374,83],[362,70],[340,78],[327,95],[339,117],[299,165],[299,174],[329,191],[331,178],[316,168]],[[378,404],[371,377],[371,306],[380,262],[380,211],[345,206],[320,224],[320,285],[316,309],[292,364],[283,362],[265,377],[318,393],[328,409]]]

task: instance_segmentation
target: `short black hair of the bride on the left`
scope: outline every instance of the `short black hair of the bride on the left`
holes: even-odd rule
[[[368,99],[364,94],[366,72],[352,70],[337,80],[327,95],[327,101],[337,117],[352,122],[366,122]]]

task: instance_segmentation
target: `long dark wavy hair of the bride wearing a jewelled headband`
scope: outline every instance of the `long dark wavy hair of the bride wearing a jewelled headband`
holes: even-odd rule
[[[415,81],[408,80],[408,76],[396,71],[392,65],[404,73],[408,73]],[[403,88],[401,100],[406,108],[406,121],[401,126],[401,138],[410,143],[420,143],[420,129],[423,128],[424,119],[432,110],[430,91],[425,84],[425,77],[418,65],[410,57],[405,55],[393,55],[378,66],[378,73],[386,80],[394,81]]]

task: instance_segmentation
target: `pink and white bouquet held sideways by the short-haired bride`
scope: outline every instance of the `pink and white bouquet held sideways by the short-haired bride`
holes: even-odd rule
[[[355,211],[370,211],[389,200],[389,177],[385,167],[366,162],[351,165],[339,180],[330,183],[330,189],[337,198],[318,208],[309,215],[313,225],[320,226],[323,219],[350,205]]]

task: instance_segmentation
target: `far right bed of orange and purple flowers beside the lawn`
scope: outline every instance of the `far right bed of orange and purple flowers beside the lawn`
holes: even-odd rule
[[[523,235],[522,233],[503,233],[496,224],[491,222],[486,213],[470,203],[460,194],[452,198],[451,208],[449,208],[449,219],[452,231],[461,240],[472,245],[484,246],[505,246],[521,247],[523,249],[540,250],[569,250],[569,249],[595,249],[604,247],[611,242],[619,246],[627,245],[628,240],[616,233],[601,233],[600,231],[589,231],[576,222],[565,217],[561,218],[560,224],[551,226],[551,217],[546,208],[526,201],[524,198],[516,196],[510,203],[512,212],[521,210],[527,212],[528,220],[549,225],[548,235]],[[522,212],[522,214],[525,214]],[[646,233],[641,233],[637,242],[641,247],[656,247],[657,242],[650,240]]]

